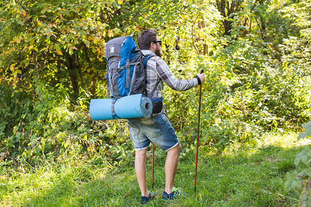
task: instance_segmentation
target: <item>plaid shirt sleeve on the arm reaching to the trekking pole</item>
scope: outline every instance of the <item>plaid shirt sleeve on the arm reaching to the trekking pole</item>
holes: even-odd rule
[[[156,59],[156,70],[164,83],[167,83],[167,86],[173,90],[185,91],[198,85],[198,79],[196,78],[187,80],[176,78],[169,70],[167,63],[161,58]]]

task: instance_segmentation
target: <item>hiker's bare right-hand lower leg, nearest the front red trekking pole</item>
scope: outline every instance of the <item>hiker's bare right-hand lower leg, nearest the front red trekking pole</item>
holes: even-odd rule
[[[170,194],[174,186],[174,179],[178,165],[180,144],[175,148],[167,151],[167,159],[165,161],[165,192]]]

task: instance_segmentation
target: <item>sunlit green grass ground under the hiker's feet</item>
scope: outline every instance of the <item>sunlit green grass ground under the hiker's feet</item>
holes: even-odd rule
[[[223,153],[200,148],[194,193],[195,148],[183,148],[176,187],[187,193],[162,201],[165,152],[156,150],[158,197],[146,206],[296,206],[299,190],[285,190],[286,173],[307,141],[296,135],[270,135],[251,144],[232,144]],[[151,188],[151,153],[147,180]],[[133,159],[131,159],[133,161]],[[140,206],[133,162],[94,165],[88,159],[42,161],[40,166],[0,169],[1,206]],[[151,190],[151,189],[150,189]]]

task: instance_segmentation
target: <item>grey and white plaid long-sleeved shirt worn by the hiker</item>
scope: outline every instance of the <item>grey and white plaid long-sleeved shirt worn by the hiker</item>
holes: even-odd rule
[[[142,50],[144,55],[155,55],[151,50]],[[185,91],[198,85],[198,79],[181,80],[177,79],[169,70],[167,63],[162,58],[155,56],[150,57],[147,61],[146,68],[146,80],[147,80],[147,95],[151,93],[156,86],[158,79],[160,78],[160,84],[153,94],[153,97],[162,97],[161,88],[163,89],[163,81],[167,83],[167,86],[173,90]]]

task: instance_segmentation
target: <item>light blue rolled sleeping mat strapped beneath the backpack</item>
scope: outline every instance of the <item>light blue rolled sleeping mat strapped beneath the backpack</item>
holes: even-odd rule
[[[141,94],[130,95],[116,99],[114,112],[112,104],[114,99],[91,99],[90,114],[93,120],[131,119],[149,117],[152,113],[152,102]]]

